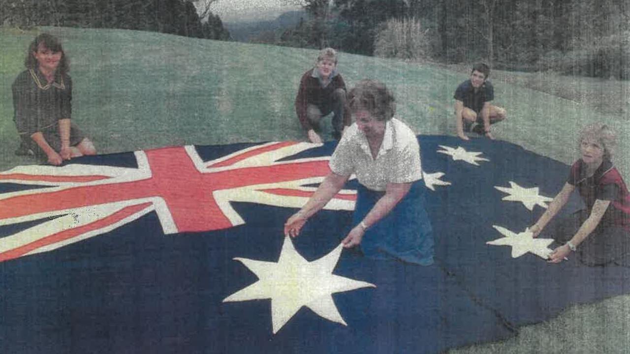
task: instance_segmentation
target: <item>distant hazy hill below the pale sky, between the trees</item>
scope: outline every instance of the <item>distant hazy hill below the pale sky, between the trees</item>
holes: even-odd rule
[[[230,32],[232,40],[238,42],[249,42],[266,31],[278,31],[292,28],[297,25],[302,18],[307,19],[308,14],[304,10],[287,11],[275,20],[267,21],[238,21],[224,22],[224,26]]]

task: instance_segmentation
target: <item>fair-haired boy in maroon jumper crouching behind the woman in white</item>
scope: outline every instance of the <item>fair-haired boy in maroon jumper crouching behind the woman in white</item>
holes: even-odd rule
[[[295,113],[311,142],[322,142],[317,133],[322,117],[333,112],[333,137],[340,139],[351,122],[345,107],[346,84],[336,70],[337,55],[334,49],[319,52],[317,64],[302,75],[295,97]]]

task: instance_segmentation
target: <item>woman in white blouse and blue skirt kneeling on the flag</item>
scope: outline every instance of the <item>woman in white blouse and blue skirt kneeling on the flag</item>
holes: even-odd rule
[[[433,234],[424,207],[420,146],[413,131],[394,116],[394,97],[384,84],[364,80],[348,94],[356,122],[331,157],[331,173],[285,223],[295,237],[306,220],[343,188],[351,174],[360,183],[346,248],[360,244],[365,256],[419,265],[433,263]]]

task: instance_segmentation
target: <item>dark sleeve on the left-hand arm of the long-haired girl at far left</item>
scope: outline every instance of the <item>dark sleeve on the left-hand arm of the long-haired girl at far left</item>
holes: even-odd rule
[[[38,131],[37,98],[20,77],[11,87],[13,91],[14,120],[18,134],[30,137]]]

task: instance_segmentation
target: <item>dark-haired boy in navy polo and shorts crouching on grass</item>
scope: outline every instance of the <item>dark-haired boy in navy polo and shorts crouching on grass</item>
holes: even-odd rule
[[[490,67],[475,64],[471,78],[455,90],[455,130],[461,139],[468,140],[464,127],[467,131],[495,139],[490,133],[490,125],[505,119],[505,110],[490,104],[495,98],[495,89],[487,81],[488,76]]]

